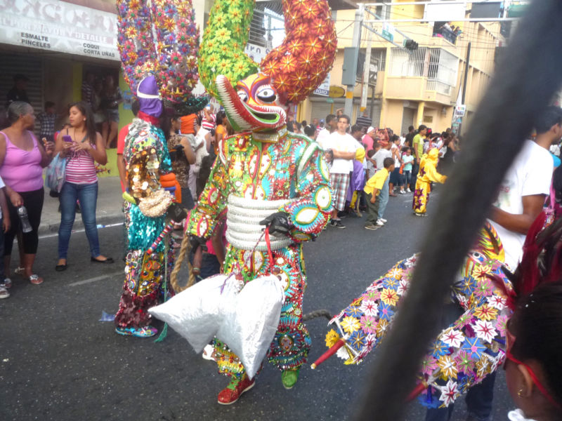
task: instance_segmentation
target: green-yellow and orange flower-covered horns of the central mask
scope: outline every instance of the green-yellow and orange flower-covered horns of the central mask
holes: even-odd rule
[[[285,40],[258,66],[244,46],[254,0],[217,0],[211,8],[200,50],[199,71],[207,91],[218,97],[216,76],[237,83],[261,71],[270,76],[285,103],[298,103],[310,95],[332,68],[336,32],[326,0],[283,0]]]

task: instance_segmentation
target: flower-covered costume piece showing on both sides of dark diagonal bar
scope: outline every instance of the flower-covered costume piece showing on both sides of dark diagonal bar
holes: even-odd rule
[[[487,224],[452,286],[450,302],[464,313],[438,335],[421,363],[419,382],[424,391],[419,400],[425,406],[449,406],[504,361],[512,287],[502,272],[503,259],[499,236]],[[360,363],[391,329],[416,260],[413,255],[398,262],[330,321],[339,332],[329,330],[326,345],[346,338],[338,351],[346,364]]]

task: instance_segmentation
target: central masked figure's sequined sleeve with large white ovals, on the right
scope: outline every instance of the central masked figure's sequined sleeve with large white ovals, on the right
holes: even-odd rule
[[[290,236],[296,242],[320,234],[332,212],[332,189],[329,170],[318,145],[310,143],[299,160],[296,171],[296,200],[280,210],[289,213],[293,225]]]

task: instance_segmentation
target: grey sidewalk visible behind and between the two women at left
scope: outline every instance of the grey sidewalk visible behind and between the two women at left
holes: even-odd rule
[[[98,207],[96,210],[96,222],[100,225],[110,225],[123,222],[123,199],[121,196],[121,183],[119,177],[100,177],[98,179]],[[60,213],[58,212],[58,199],[48,195],[45,189],[45,203],[39,225],[39,235],[58,232],[60,224]],[[84,228],[81,215],[76,214],[73,231]]]

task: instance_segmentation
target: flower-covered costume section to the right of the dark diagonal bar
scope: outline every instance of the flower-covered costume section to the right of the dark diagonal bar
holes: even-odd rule
[[[469,256],[470,270],[453,286],[455,302],[464,313],[440,333],[422,362],[419,378],[427,387],[419,399],[430,408],[449,406],[505,359],[511,284],[501,262],[476,259]]]

